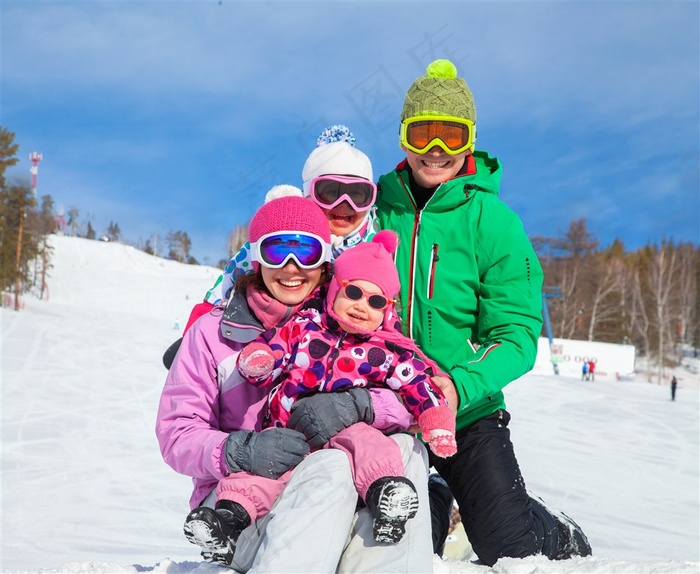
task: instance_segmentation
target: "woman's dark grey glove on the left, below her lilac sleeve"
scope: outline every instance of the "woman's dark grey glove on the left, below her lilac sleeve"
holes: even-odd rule
[[[300,432],[271,428],[263,432],[234,431],[228,435],[224,450],[231,472],[247,470],[277,479],[304,459],[309,445]]]

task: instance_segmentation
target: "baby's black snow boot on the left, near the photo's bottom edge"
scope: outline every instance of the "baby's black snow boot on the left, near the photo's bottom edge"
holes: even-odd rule
[[[192,544],[202,549],[208,562],[231,565],[236,541],[250,524],[250,516],[238,503],[220,500],[216,510],[199,506],[187,515],[183,530]]]

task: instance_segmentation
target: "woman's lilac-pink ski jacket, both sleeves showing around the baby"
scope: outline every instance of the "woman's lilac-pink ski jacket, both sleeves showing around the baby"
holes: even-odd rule
[[[195,508],[230,474],[224,447],[229,432],[262,430],[268,391],[244,380],[236,368],[243,342],[224,337],[222,307],[198,319],[182,341],[160,397],[156,436],[163,460],[191,476]],[[247,329],[250,331],[250,328]],[[392,392],[372,391],[374,423],[383,432],[407,429],[411,416]]]

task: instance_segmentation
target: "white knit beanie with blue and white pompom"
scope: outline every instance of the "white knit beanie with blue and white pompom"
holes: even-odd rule
[[[350,175],[374,181],[372,163],[355,147],[355,137],[346,126],[326,128],[316,143],[318,147],[311,152],[301,172],[304,195],[309,195],[311,180],[320,175]]]

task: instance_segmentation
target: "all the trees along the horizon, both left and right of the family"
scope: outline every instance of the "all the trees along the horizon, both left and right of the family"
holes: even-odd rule
[[[90,221],[81,223],[78,208],[65,221],[55,213],[50,195],[37,200],[27,182],[6,184],[5,170],[17,163],[14,134],[0,127],[0,287],[3,306],[19,308],[20,296],[46,289],[51,268],[51,233],[97,239]],[[228,254],[247,237],[237,226],[228,238]],[[110,222],[100,239],[124,242]],[[700,249],[692,243],[663,241],[627,251],[620,241],[600,247],[586,220],[572,221],[561,237],[532,237],[545,271],[543,301],[554,337],[634,345],[637,352],[665,365],[680,362],[684,349],[700,343]],[[197,264],[184,231],[165,241],[153,235],[135,247],[152,255]],[[542,335],[546,335],[544,332]]]

